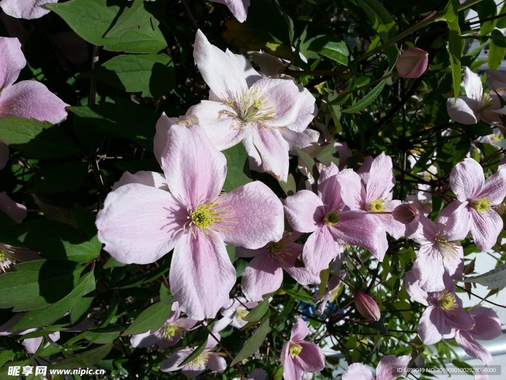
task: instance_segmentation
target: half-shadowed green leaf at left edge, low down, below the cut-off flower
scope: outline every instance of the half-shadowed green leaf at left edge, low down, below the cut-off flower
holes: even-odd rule
[[[16,272],[0,276],[0,308],[14,312],[33,310],[57,302],[72,291],[81,267],[64,260],[41,260],[17,264]]]

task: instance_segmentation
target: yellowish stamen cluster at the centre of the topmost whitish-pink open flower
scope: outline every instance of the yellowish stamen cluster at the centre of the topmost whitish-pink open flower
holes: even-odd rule
[[[242,95],[238,99],[223,100],[229,110],[221,111],[218,119],[223,116],[235,119],[231,125],[232,129],[242,129],[253,123],[260,123],[265,127],[266,121],[276,120],[274,107],[265,107],[268,101],[269,98],[258,89],[242,90]]]

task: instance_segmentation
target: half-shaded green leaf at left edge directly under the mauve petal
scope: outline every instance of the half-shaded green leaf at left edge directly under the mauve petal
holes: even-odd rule
[[[79,150],[61,127],[14,116],[0,118],[0,140],[40,159],[67,157]]]

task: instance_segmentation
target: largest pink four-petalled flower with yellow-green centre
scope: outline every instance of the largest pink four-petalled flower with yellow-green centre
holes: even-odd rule
[[[171,192],[117,187],[97,215],[98,237],[124,263],[154,262],[174,249],[169,282],[181,311],[213,318],[236,280],[225,244],[257,249],[281,239],[283,206],[258,181],[220,195],[227,162],[200,127],[174,125],[167,141],[159,160]]]

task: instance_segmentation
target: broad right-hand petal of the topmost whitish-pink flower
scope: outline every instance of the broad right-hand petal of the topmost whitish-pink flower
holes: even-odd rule
[[[313,117],[311,119],[304,118],[301,123],[296,123],[299,117],[299,110],[305,105],[307,98],[299,92],[299,88],[294,82],[285,79],[264,78],[251,86],[251,91],[255,90],[258,90],[269,99],[265,103],[264,109],[269,107],[274,108],[275,119],[267,120],[265,122],[267,126],[287,127],[294,132],[302,132],[312,120]],[[311,94],[310,96],[313,97]]]

